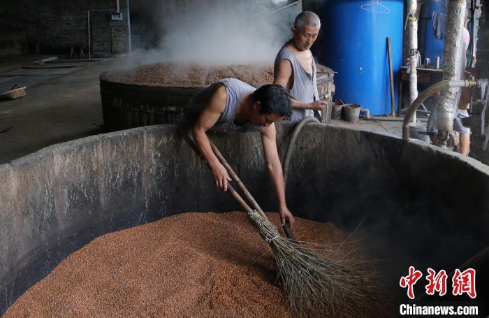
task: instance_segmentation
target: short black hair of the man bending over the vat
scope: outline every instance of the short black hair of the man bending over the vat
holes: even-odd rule
[[[280,85],[267,84],[253,92],[253,101],[260,102],[261,114],[292,115],[291,93]]]

